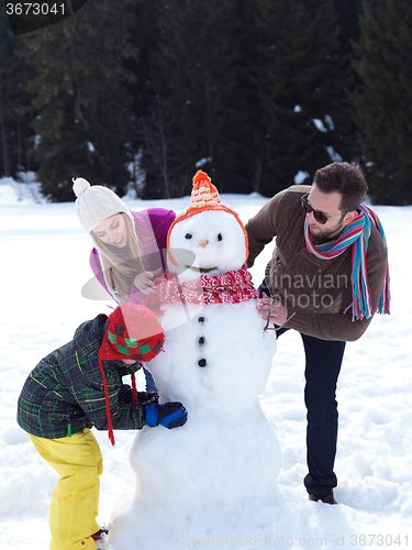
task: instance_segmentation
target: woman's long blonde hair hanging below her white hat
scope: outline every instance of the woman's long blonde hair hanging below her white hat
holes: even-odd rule
[[[127,304],[130,301],[133,280],[136,275],[145,271],[145,265],[143,262],[143,249],[136,235],[134,223],[127,215],[123,212],[119,213],[123,217],[127,228],[127,260],[113,252],[113,249],[104,244],[93,231],[90,234],[100,252],[104,279],[109,288],[121,304]]]

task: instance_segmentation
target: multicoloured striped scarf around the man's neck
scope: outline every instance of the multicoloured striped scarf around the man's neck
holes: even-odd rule
[[[341,235],[334,241],[314,245],[312,243],[308,223],[304,224],[304,239],[307,249],[311,254],[322,260],[332,260],[339,256],[349,246],[352,248],[352,293],[353,293],[353,311],[354,317],[358,320],[369,319],[374,315],[370,292],[368,285],[368,274],[366,267],[366,251],[368,250],[371,222],[376,224],[382,237],[385,246],[387,241],[382,224],[377,215],[367,206],[360,205],[358,215],[355,220],[349,223]],[[387,273],[385,285],[380,295],[378,312],[390,314],[390,290],[389,290],[389,265],[387,264]]]

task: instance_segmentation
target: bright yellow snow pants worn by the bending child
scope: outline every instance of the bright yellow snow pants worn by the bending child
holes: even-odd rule
[[[49,512],[51,550],[96,550],[91,535],[100,529],[96,518],[103,461],[94,436],[86,428],[69,438],[30,438],[60,476]]]

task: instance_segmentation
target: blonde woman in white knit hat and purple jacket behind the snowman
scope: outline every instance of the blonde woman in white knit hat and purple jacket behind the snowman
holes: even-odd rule
[[[94,248],[90,266],[99,283],[118,304],[142,304],[154,294],[154,278],[166,270],[167,233],[176,215],[149,208],[131,211],[108,187],[74,179],[76,213]],[[155,391],[145,371],[146,389]]]

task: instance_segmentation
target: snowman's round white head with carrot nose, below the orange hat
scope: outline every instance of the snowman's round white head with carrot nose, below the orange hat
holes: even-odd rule
[[[242,227],[232,213],[222,210],[205,210],[176,223],[169,250],[170,270],[178,266],[186,279],[240,270],[247,255]]]

